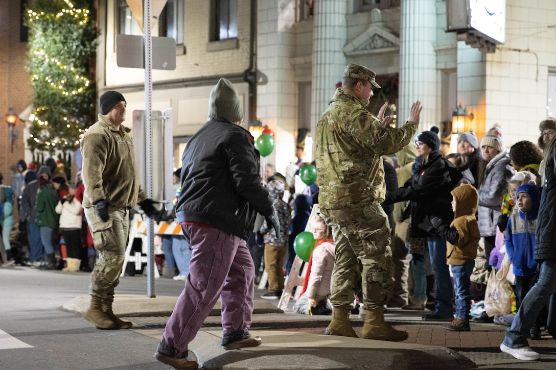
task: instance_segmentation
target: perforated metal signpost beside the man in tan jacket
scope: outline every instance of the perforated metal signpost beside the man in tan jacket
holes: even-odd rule
[[[145,34],[145,191],[152,198],[152,38],[151,0],[143,3],[143,33]],[[155,294],[155,229],[147,217],[147,296]]]

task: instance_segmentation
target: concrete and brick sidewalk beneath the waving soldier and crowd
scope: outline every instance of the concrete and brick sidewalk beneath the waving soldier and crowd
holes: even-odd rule
[[[257,292],[256,297],[259,295]],[[160,339],[176,299],[117,295],[113,308],[118,316],[133,322],[133,330]],[[77,297],[63,308],[83,312],[88,303],[88,296]],[[540,341],[530,341],[542,354],[540,360],[524,362],[500,352],[505,327],[497,324],[471,324],[470,332],[449,332],[443,323],[421,321],[423,311],[388,309],[386,321],[408,332],[408,339],[371,341],[325,336],[329,316],[282,312],[277,303],[277,299],[255,299],[250,331],[262,338],[260,347],[222,349],[219,302],[191,342],[190,352],[200,366],[211,369],[556,369],[556,341],[548,334]],[[351,321],[360,336],[363,319],[352,315]]]

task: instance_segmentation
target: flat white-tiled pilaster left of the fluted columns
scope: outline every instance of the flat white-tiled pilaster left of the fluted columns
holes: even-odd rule
[[[285,173],[294,160],[297,86],[291,66],[295,3],[260,0],[257,11],[257,117],[275,132],[275,149],[265,158]]]

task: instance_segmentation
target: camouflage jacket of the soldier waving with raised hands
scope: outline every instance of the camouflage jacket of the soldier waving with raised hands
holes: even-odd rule
[[[349,89],[336,89],[316,126],[316,167],[321,209],[351,208],[384,201],[381,156],[405,147],[417,131],[408,122],[383,127]]]

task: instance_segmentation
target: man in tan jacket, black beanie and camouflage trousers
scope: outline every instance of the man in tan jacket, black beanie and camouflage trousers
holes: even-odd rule
[[[129,209],[139,204],[150,218],[157,212],[139,183],[131,130],[122,124],[126,99],[117,91],[107,91],[99,100],[101,114],[81,142],[82,204],[98,252],[85,318],[98,329],[127,329],[132,323],[112,312],[112,302],[127,245]]]

